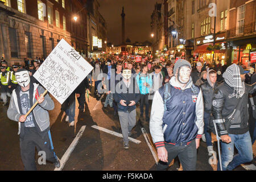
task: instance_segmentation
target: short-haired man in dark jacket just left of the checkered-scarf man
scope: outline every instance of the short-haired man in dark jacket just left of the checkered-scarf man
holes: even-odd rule
[[[214,90],[220,85],[217,80],[217,73],[213,69],[207,72],[207,81],[205,81],[200,87],[204,96],[204,134],[202,139],[207,142],[208,152],[213,152],[212,135],[208,131],[209,120],[212,115],[212,100]]]

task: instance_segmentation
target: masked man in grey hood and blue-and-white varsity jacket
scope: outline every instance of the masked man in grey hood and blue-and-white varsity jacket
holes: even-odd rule
[[[160,159],[158,170],[168,168],[176,156],[184,171],[196,170],[196,150],[204,133],[204,104],[191,70],[188,61],[177,60],[174,76],[154,95],[150,133]]]

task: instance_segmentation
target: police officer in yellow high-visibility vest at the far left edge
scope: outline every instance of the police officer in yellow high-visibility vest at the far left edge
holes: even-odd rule
[[[5,66],[1,66],[1,73],[0,73],[0,97],[3,100],[3,106],[8,104],[7,96],[11,97],[10,94],[10,72],[6,71]]]

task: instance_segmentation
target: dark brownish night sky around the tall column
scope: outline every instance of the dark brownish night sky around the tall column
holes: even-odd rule
[[[108,42],[120,44],[122,41],[122,6],[125,8],[125,40],[134,42],[151,41],[151,14],[155,3],[161,0],[98,0],[100,13],[107,24]]]

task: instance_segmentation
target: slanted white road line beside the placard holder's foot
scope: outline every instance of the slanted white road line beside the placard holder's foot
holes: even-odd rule
[[[69,156],[71,155],[72,151],[75,149],[76,144],[79,142],[79,139],[81,138],[82,133],[84,133],[85,127],[86,126],[81,127],[79,133],[76,135],[76,138],[73,140],[73,142],[68,147],[68,150],[65,152],[65,154],[60,159],[60,167],[55,168],[54,171],[61,171],[63,169],[65,163],[67,162],[67,160],[69,158]]]

